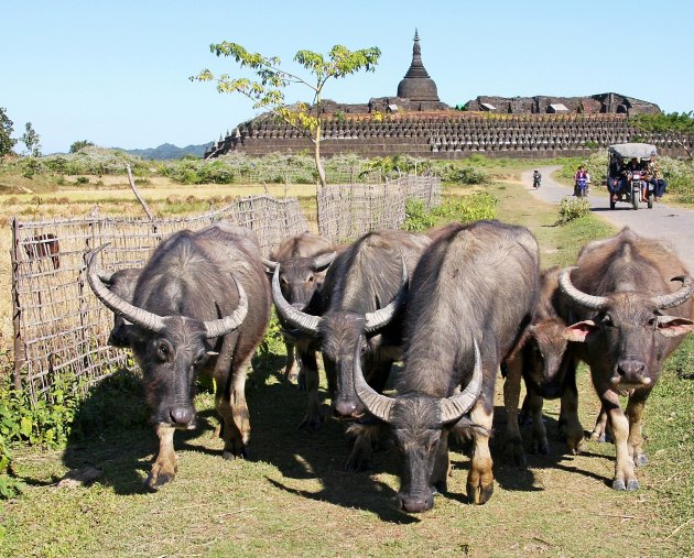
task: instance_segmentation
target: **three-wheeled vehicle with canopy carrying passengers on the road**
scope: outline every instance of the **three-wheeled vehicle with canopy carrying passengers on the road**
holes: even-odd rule
[[[610,209],[615,209],[617,201],[626,201],[633,209],[639,209],[642,193],[647,196],[648,208],[653,208],[654,188],[646,178],[646,171],[653,155],[658,155],[658,150],[649,143],[618,143],[607,149]]]

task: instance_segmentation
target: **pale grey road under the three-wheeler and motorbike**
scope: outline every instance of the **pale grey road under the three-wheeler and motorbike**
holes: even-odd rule
[[[562,198],[572,195],[572,189],[552,179],[552,173],[559,166],[541,167],[542,186],[532,187],[532,171],[527,171],[521,178],[532,194],[544,201],[559,204]],[[666,199],[666,195],[665,198]],[[646,204],[635,211],[631,205],[618,203],[614,210],[609,209],[607,193],[596,193],[595,188],[588,196],[590,210],[597,217],[605,219],[615,227],[629,226],[631,230],[642,237],[668,239],[690,271],[694,270],[694,210],[682,209],[665,204],[655,204],[648,209]]]

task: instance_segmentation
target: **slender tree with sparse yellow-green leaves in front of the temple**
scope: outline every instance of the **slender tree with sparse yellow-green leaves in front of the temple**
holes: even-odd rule
[[[353,52],[345,46],[335,45],[327,57],[313,51],[299,51],[294,56],[294,62],[308,70],[312,76],[304,78],[282,69],[279,57],[250,53],[236,43],[213,44],[209,48],[217,56],[232,57],[241,68],[249,67],[254,70],[257,80],[231,78],[228,74],[215,76],[209,69],[192,76],[191,80],[216,81],[219,92],[240,92],[253,101],[254,109],[267,110],[301,131],[314,145],[318,178],[321,186],[325,186],[325,171],[321,162],[323,88],[330,78],[345,77],[361,69],[373,72],[381,51],[373,46]],[[311,105],[299,102],[288,106],[284,102],[284,90],[293,84],[300,84],[312,90]]]

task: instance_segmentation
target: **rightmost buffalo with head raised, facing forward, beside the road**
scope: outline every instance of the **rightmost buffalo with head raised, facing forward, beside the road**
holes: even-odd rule
[[[694,281],[674,251],[628,228],[588,243],[577,267],[560,275],[577,321],[565,336],[577,341],[590,366],[603,412],[612,430],[617,460],[612,488],[637,490],[635,464],[643,452],[641,415],[663,360],[692,331]],[[664,310],[670,310],[665,314]],[[619,395],[628,395],[625,411]]]

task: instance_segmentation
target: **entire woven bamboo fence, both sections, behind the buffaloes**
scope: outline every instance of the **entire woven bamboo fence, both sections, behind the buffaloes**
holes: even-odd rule
[[[319,232],[334,242],[377,228],[400,228],[405,200],[441,203],[441,182],[405,176],[380,185],[324,188],[318,195]],[[271,196],[241,198],[199,216],[176,219],[99,217],[19,221],[12,227],[12,305],[14,385],[32,402],[48,397],[57,378],[67,374],[88,386],[128,366],[128,351],[107,346],[112,314],[91,293],[86,258],[109,243],[101,255],[104,271],[141,267],[162,239],[227,220],[248,227],[268,255],[284,238],[308,230],[296,199]]]

